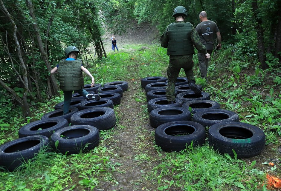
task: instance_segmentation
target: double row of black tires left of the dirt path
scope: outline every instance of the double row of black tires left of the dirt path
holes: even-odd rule
[[[63,115],[61,102],[41,120],[23,126],[19,130],[19,139],[0,146],[0,166],[14,171],[25,161],[35,158],[40,150],[70,155],[94,149],[100,142],[99,131],[111,129],[116,124],[113,106],[120,104],[123,91],[128,90],[128,83],[109,82],[104,87],[86,84],[85,90],[98,93],[101,97],[99,101],[87,101],[74,93],[69,113]]]

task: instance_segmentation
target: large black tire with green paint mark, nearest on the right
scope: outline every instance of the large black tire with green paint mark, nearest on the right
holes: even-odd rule
[[[238,158],[258,155],[265,148],[265,133],[256,126],[241,122],[222,122],[212,125],[208,133],[209,145],[219,153]]]

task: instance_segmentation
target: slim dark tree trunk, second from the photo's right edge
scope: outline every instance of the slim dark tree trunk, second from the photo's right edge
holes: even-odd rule
[[[262,28],[262,20],[258,17],[258,4],[257,0],[252,0],[252,10],[253,14],[255,16],[257,24],[255,24],[256,33],[257,33],[257,40],[258,40],[258,55],[259,55],[259,61],[262,64],[262,69],[264,70],[267,68],[267,64],[265,63],[265,47],[263,43],[263,34],[264,30]]]

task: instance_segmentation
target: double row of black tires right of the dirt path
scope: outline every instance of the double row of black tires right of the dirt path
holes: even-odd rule
[[[175,103],[168,104],[167,81],[164,77],[143,78],[150,125],[155,129],[155,143],[164,151],[181,151],[187,146],[205,143],[208,129],[209,145],[220,153],[239,158],[256,156],[265,147],[265,134],[256,126],[239,122],[233,111],[220,109],[207,92],[196,95],[186,78],[175,84]],[[161,80],[161,81],[160,81]],[[202,90],[202,87],[198,85]],[[234,152],[233,152],[234,151]]]

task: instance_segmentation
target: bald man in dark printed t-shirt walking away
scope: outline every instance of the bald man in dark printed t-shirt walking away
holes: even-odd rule
[[[222,47],[221,41],[221,34],[219,32],[219,28],[215,22],[210,21],[207,19],[207,13],[202,11],[199,14],[199,19],[201,23],[196,26],[196,31],[200,36],[200,40],[202,44],[205,45],[207,52],[211,55],[214,47],[214,33],[216,33],[218,45],[217,49]],[[201,78],[206,78],[207,76],[207,68],[208,68],[208,59],[205,58],[205,55],[198,52],[198,61],[200,67]]]

